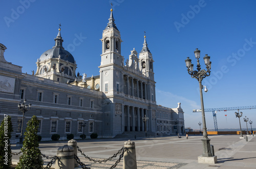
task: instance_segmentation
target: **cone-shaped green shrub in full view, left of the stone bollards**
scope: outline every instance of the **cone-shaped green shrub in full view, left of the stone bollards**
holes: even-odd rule
[[[25,138],[23,141],[22,152],[23,155],[19,157],[19,162],[16,168],[18,169],[29,169],[37,168],[41,169],[44,161],[41,157],[41,152],[38,149],[38,126],[39,120],[35,115],[27,123],[26,132],[24,133]]]

